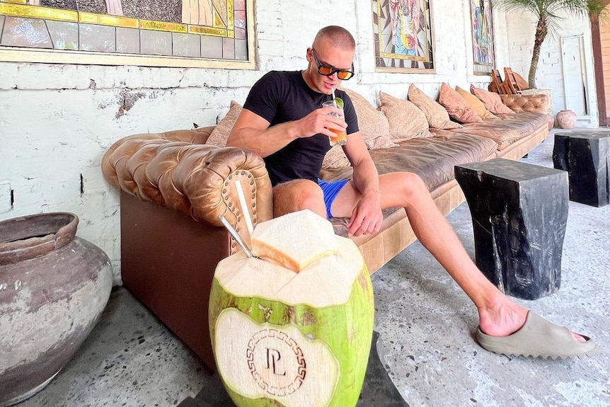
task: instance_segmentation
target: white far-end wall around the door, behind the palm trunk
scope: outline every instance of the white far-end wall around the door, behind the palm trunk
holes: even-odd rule
[[[561,38],[582,35],[585,52],[585,72],[587,77],[586,90],[588,93],[589,115],[578,117],[578,127],[597,127],[599,114],[597,111],[597,93],[595,91],[593,48],[591,39],[591,25],[585,18],[577,18],[561,13],[563,19],[560,21],[560,29],[555,35],[548,35],[543,42],[538,70],[536,71],[536,87],[551,90],[551,109],[556,114],[559,110],[570,107],[570,98],[578,98],[580,95],[566,94],[563,78],[564,75],[574,72],[564,72],[562,65]],[[510,67],[519,72],[527,80],[529,65],[531,62],[532,48],[534,47],[534,33],[536,31],[536,19],[531,13],[512,13],[510,16],[502,16],[502,25],[510,32],[510,40],[507,43],[509,50]],[[502,67],[502,65],[500,65]],[[572,92],[573,93],[573,92]]]

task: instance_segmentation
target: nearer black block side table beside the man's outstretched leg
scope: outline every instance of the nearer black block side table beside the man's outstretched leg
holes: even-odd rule
[[[455,176],[471,211],[483,274],[522,299],[559,290],[568,173],[493,159],[456,166]]]

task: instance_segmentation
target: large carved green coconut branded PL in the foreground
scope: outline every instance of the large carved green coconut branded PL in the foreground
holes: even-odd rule
[[[221,260],[210,293],[212,348],[231,399],[240,407],[355,406],[374,318],[357,246],[310,211],[259,224],[251,241],[256,257]]]

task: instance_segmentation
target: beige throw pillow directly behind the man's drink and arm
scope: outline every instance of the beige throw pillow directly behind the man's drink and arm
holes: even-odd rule
[[[347,96],[350,96],[356,115],[358,116],[358,127],[360,134],[367,144],[367,149],[386,149],[398,147],[390,137],[390,123],[388,118],[376,110],[374,106],[359,93],[347,88],[342,88]]]

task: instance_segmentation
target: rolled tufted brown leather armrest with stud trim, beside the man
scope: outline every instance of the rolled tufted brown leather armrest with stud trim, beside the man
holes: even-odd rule
[[[272,187],[263,159],[246,149],[200,144],[208,135],[209,128],[202,128],[124,137],[104,154],[104,177],[141,200],[213,226],[222,226],[224,215],[243,230],[239,180],[253,223],[271,219]]]

